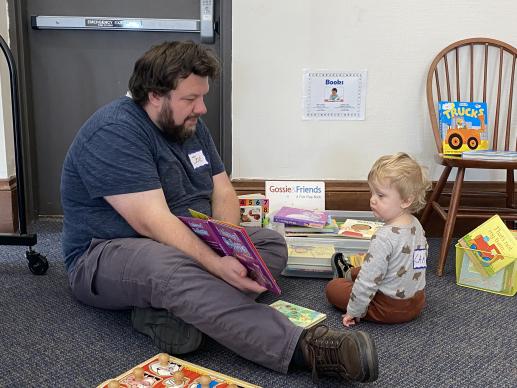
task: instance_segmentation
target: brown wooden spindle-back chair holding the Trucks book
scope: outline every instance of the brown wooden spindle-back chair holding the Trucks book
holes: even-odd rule
[[[512,118],[515,119],[512,106],[516,88],[516,57],[517,49],[507,43],[490,38],[464,39],[440,51],[429,68],[427,105],[438,151],[437,159],[444,166],[444,170],[422,212],[421,222],[425,225],[433,210],[445,221],[437,268],[439,276],[443,274],[456,218],[485,219],[497,213],[506,221],[517,220],[514,188],[514,170],[517,162],[444,158],[438,127],[438,101],[486,102],[489,147],[494,150],[515,151],[517,124],[512,125]],[[517,120],[514,122],[517,123]],[[443,189],[453,169],[456,170],[456,178],[452,192],[445,193]],[[491,170],[482,173],[488,176],[489,181],[501,180],[504,175],[495,170],[505,170],[505,192],[467,193],[463,191],[467,169]],[[449,204],[442,206],[439,200],[446,194],[450,195]],[[482,199],[482,203],[487,203],[489,206],[484,208],[460,206],[462,195]],[[445,203],[443,198],[441,203]]]

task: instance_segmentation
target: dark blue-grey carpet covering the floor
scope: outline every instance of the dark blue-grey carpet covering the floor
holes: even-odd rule
[[[67,286],[56,220],[38,222],[44,276],[30,273],[23,247],[0,247],[0,387],[94,387],[158,353],[130,327],[128,311],[103,311],[75,301]],[[434,274],[439,239],[430,239],[428,306],[414,322],[361,323],[378,347],[378,387],[516,387],[517,299],[455,285],[452,250],[446,275]],[[280,279],[282,299],[341,314],[323,296],[325,280]],[[266,295],[261,302],[274,299]],[[255,365],[209,340],[184,359],[263,387],[333,387],[309,372],[282,375]],[[354,386],[350,384],[350,386]],[[359,386],[359,384],[357,385]]]

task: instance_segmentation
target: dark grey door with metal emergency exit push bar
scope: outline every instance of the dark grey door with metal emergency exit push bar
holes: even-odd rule
[[[134,18],[145,20],[146,26],[156,26],[157,19],[197,20],[199,30],[206,25],[199,23],[206,1],[196,0],[23,0],[11,1],[18,7],[17,28],[21,42],[25,44],[24,60],[26,84],[22,93],[31,116],[29,123],[28,149],[30,159],[25,166],[29,172],[27,190],[30,216],[61,215],[59,184],[64,157],[76,132],[84,121],[102,105],[124,95],[134,62],[152,45],[166,40],[201,41],[201,33],[149,30],[114,30],[101,25],[101,18],[110,20]],[[228,2],[214,2],[213,18],[217,29],[231,23]],[[205,8],[206,12],[207,8]],[[37,19],[34,17],[38,16]],[[47,29],[47,16],[76,16],[74,20],[91,18],[97,21],[97,29]],[[32,19],[31,19],[32,17]],[[226,19],[228,18],[228,19]],[[71,20],[68,18],[63,18]],[[87,19],[91,25],[91,19]],[[31,26],[32,24],[36,26]],[[43,20],[43,21],[40,21]],[[59,27],[66,23],[61,23]],[[83,24],[84,25],[84,24]],[[121,26],[122,24],[118,24]],[[138,26],[142,27],[142,23]],[[212,23],[210,23],[212,26]],[[201,28],[202,27],[202,28]],[[213,29],[209,32],[212,33]],[[205,30],[206,33],[206,30]],[[223,42],[223,34],[214,34],[214,41],[203,43],[211,47],[223,60],[223,73],[211,84],[206,99],[208,113],[204,119],[214,137],[229,171],[231,140],[229,137],[229,52]],[[227,63],[228,62],[228,63]],[[225,103],[223,106],[223,102]]]

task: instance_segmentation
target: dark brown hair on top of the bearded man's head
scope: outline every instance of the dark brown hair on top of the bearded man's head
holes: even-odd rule
[[[129,79],[133,100],[144,106],[149,92],[163,96],[190,74],[216,78],[221,64],[215,53],[192,41],[164,42],[151,47],[135,63]]]

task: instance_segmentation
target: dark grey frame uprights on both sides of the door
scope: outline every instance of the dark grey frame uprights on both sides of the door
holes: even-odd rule
[[[220,40],[220,56],[222,69],[220,76],[221,90],[219,96],[220,113],[220,149],[221,159],[223,160],[228,174],[232,169],[232,1],[215,0],[219,4],[214,7],[216,22],[216,39]],[[25,14],[27,0],[7,0],[9,17],[9,40],[13,57],[16,61],[18,72],[18,99],[20,102],[20,126],[21,144],[23,147],[24,165],[24,184],[27,221],[33,222],[39,216],[39,203],[37,198],[38,190],[34,190],[38,185],[36,173],[36,144],[34,133],[34,113],[31,96],[31,76],[30,76],[30,50],[28,45],[28,31],[30,26],[30,15]],[[219,8],[219,13],[217,12]],[[122,15],[121,15],[122,16]],[[142,32],[145,33],[145,32]]]

